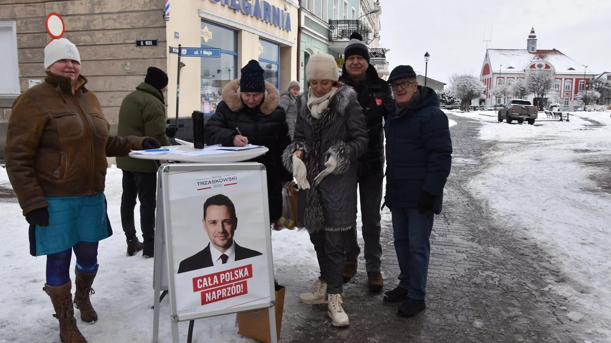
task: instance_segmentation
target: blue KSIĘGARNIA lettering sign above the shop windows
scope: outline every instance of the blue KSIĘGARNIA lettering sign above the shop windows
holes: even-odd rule
[[[235,12],[241,11],[245,15],[254,16],[268,24],[280,27],[280,29],[291,31],[291,14],[284,12],[280,7],[270,5],[265,0],[210,0],[221,2]]]

